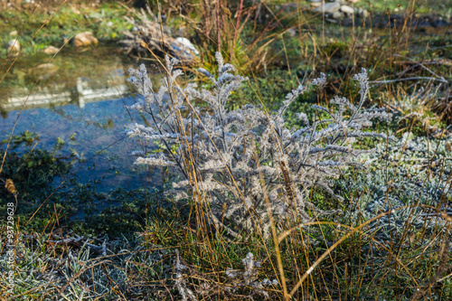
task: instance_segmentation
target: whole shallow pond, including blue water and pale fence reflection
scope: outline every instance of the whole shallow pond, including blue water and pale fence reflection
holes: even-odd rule
[[[146,171],[130,156],[140,149],[139,141],[123,134],[131,122],[146,123],[144,116],[126,108],[134,103],[126,71],[137,64],[121,61],[108,48],[99,52],[101,60],[90,53],[71,52],[51,65],[46,57],[34,58],[35,67],[28,70],[23,67],[30,58],[18,61],[0,84],[0,141],[10,136],[20,114],[14,135],[26,130],[37,133],[40,140],[35,147],[71,160],[80,183],[97,183],[103,192],[144,187]],[[64,144],[57,150],[60,139]],[[147,183],[158,186],[161,176],[153,174]]]

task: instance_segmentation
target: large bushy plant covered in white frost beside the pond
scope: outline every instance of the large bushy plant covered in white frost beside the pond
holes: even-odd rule
[[[218,52],[216,59],[218,77],[199,70],[212,81],[212,89],[198,89],[195,83],[179,87],[175,80],[183,72],[174,70],[177,60],[168,57],[158,91],[145,65],[129,70],[129,81],[143,95],[131,108],[147,113],[150,125],[131,125],[127,135],[157,140],[164,148],[159,154],[137,153],[137,164],[178,170],[183,178],[174,183],[174,197],[191,195],[195,202],[208,202],[209,221],[233,236],[240,234],[231,226],[268,234],[268,212],[276,221],[310,221],[308,209],[325,213],[308,202],[309,189],[316,186],[334,195],[331,179],[341,168],[358,165],[356,157],[363,153],[353,143],[364,137],[387,138],[364,131],[373,118],[391,117],[384,111],[363,110],[369,92],[367,72],[353,78],[360,85],[356,105],[335,97],[331,104],[338,107],[336,111],[313,106],[316,113],[311,120],[298,113],[304,127],[297,129],[287,127],[285,112],[306,86],[288,93],[283,106],[271,114],[251,104],[231,110],[227,107],[231,92],[247,79],[233,75],[234,67],[224,63]],[[325,80],[322,75],[314,83],[323,86]],[[208,108],[193,107],[194,100],[204,101]]]

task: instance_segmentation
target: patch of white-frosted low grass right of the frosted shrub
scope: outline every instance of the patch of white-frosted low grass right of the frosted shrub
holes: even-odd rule
[[[452,199],[452,149],[447,139],[405,133],[394,143],[376,146],[363,159],[370,163],[371,173],[340,183],[345,192],[361,195],[351,200],[351,221],[392,211],[369,225],[380,240],[392,241],[403,239],[407,228],[421,232],[445,226],[431,208],[451,213],[447,200]]]

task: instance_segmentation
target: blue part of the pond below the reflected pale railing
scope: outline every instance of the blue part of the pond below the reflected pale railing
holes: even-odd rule
[[[124,104],[133,103],[133,98],[126,98],[88,102],[83,108],[69,104],[25,109],[14,133],[36,132],[40,136],[37,147],[47,150],[52,150],[57,138],[61,138],[65,144],[60,155],[78,159],[73,170],[84,164],[77,172],[80,183],[100,180],[100,191],[118,186],[126,189],[143,187],[144,171],[133,165],[135,158],[129,155],[139,148],[139,143],[123,134],[125,125],[131,122]],[[12,110],[6,118],[0,119],[2,140],[11,133],[18,113],[18,110]],[[135,120],[141,118],[131,113]],[[94,158],[86,163],[93,155]],[[156,179],[152,180],[159,185]]]

